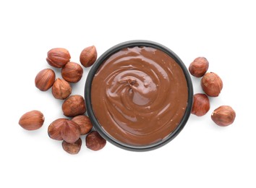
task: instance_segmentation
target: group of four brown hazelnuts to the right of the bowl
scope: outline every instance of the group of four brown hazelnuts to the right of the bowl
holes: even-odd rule
[[[223,88],[221,77],[214,72],[207,72],[209,62],[205,57],[197,57],[189,65],[189,72],[195,77],[202,77],[201,87],[205,93],[194,95],[192,114],[203,116],[210,110],[209,97],[218,97]],[[230,106],[220,106],[211,114],[211,119],[219,126],[228,126],[234,122],[236,113]]]

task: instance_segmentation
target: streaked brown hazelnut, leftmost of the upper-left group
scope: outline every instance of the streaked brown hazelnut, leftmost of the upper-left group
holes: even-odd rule
[[[55,72],[52,69],[43,69],[35,77],[35,87],[46,91],[54,84]]]

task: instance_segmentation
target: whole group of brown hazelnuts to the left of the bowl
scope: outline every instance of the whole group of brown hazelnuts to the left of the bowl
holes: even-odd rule
[[[80,64],[70,61],[71,56],[65,48],[53,48],[48,51],[46,61],[51,67],[61,68],[61,77],[56,78],[53,69],[43,69],[35,77],[35,87],[46,91],[51,88],[54,98],[64,100],[62,111],[68,118],[54,120],[48,126],[48,136],[54,140],[62,141],[62,148],[70,154],[80,151],[81,136],[86,135],[86,146],[90,150],[101,150],[106,145],[106,140],[98,132],[92,131],[93,124],[85,116],[85,100],[81,95],[71,95],[70,82],[79,82],[82,78],[83,69]],[[97,59],[95,46],[82,50],[80,63],[83,67],[90,67]],[[29,111],[23,114],[19,124],[27,130],[39,129],[43,126],[44,116],[40,111]]]

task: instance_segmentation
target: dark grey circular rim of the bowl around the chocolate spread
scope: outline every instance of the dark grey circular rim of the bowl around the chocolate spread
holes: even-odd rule
[[[168,56],[171,56],[177,64],[182,68],[184,72],[184,76],[187,80],[187,87],[188,87],[188,100],[187,100],[187,108],[184,113],[184,116],[182,120],[179,122],[179,125],[174,129],[174,132],[171,132],[171,134],[168,134],[167,137],[165,137],[163,140],[159,142],[155,142],[150,145],[129,145],[124,142],[120,142],[119,140],[116,140],[114,137],[111,137],[108,132],[106,132],[103,127],[101,127],[101,124],[98,123],[98,120],[95,118],[95,114],[93,112],[93,106],[91,104],[91,98],[90,98],[90,92],[91,92],[91,85],[93,82],[94,74],[98,71],[98,68],[101,66],[101,64],[111,55],[115,54],[117,51],[120,51],[123,48],[129,48],[129,47],[135,47],[135,46],[146,46],[146,47],[152,47],[156,48],[158,50],[161,50],[168,54]],[[187,70],[187,67],[184,65],[181,59],[179,59],[179,56],[177,56],[174,51],[171,51],[171,49],[167,48],[166,46],[163,46],[160,43],[156,43],[150,40],[129,40],[123,43],[119,43],[111,48],[109,48],[106,52],[104,52],[93,64],[93,67],[90,68],[90,71],[88,73],[88,77],[86,78],[85,82],[85,104],[87,108],[87,114],[92,121],[93,127],[95,127],[96,131],[98,131],[101,136],[106,139],[108,142],[111,142],[111,144],[116,145],[119,148],[122,148],[124,150],[131,150],[131,151],[148,151],[148,150],[155,150],[157,148],[160,148],[163,145],[166,145],[168,142],[174,139],[179,132],[182,131],[185,124],[187,124],[187,121],[189,119],[189,116],[191,114],[192,109],[192,103],[193,103],[193,85],[192,80],[190,77],[190,74]]]

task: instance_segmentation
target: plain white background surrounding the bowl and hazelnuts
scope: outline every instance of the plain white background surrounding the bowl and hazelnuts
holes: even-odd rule
[[[168,2],[168,3],[167,3]],[[0,2],[0,187],[256,187],[255,1],[1,1]],[[171,48],[188,67],[197,56],[223,80],[210,111],[190,116],[168,145],[145,153],[107,143],[69,155],[51,140],[48,124],[64,117],[51,90],[40,92],[35,75],[50,66],[51,48],[67,48],[79,62],[83,48],[98,55],[126,40],[153,40]],[[73,86],[83,95],[86,76]],[[60,77],[60,71],[57,71]],[[200,79],[192,78],[195,93]],[[236,111],[229,127],[210,119],[221,105]],[[41,129],[18,121],[43,112]]]

